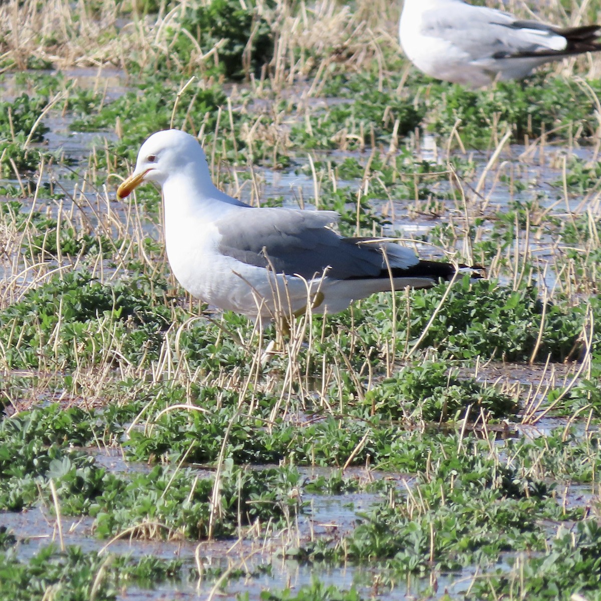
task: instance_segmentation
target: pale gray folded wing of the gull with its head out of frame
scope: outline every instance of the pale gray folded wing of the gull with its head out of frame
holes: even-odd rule
[[[445,9],[424,11],[422,33],[450,41],[474,61],[563,56],[601,49],[594,41],[601,32],[597,25],[562,29],[463,2],[450,2]]]

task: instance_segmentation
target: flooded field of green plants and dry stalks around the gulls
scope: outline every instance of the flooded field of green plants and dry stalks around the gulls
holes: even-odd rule
[[[601,56],[467,90],[400,8],[0,4],[0,599],[601,599]],[[169,127],[486,276],[260,331],[117,199]]]

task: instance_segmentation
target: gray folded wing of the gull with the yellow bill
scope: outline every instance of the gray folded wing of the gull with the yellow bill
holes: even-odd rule
[[[242,263],[307,279],[326,267],[335,279],[380,277],[386,269],[382,248],[392,267],[407,269],[419,262],[413,251],[398,244],[343,238],[327,227],[336,221],[338,214],[333,211],[237,210],[216,222],[221,234],[219,252]]]

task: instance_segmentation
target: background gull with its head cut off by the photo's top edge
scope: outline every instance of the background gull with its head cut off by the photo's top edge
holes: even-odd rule
[[[561,28],[462,0],[404,0],[398,32],[419,70],[472,88],[522,79],[548,61],[601,50],[599,25]]]

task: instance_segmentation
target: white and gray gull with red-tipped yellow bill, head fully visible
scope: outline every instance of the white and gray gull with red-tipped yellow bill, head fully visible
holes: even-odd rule
[[[224,194],[198,140],[179,130],[153,133],[142,144],[117,196],[144,182],[162,188],[167,256],[180,284],[263,326],[309,304],[316,313],[337,313],[370,294],[428,288],[456,273],[388,239],[340,236],[331,228],[335,212],[251,207]]]

